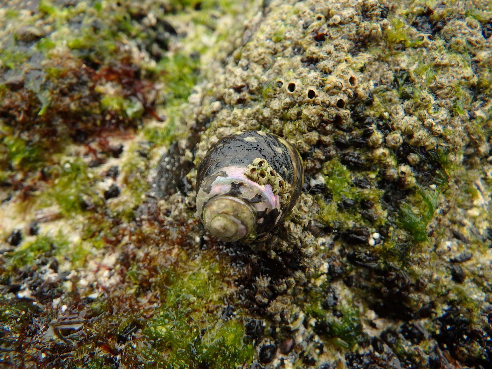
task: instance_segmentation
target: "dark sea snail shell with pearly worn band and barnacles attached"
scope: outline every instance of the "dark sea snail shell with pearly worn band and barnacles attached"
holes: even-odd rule
[[[223,241],[252,241],[284,220],[303,183],[292,144],[272,133],[239,131],[212,146],[198,168],[197,216]]]

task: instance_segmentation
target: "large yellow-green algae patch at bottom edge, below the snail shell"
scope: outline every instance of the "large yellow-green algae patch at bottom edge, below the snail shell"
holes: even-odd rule
[[[138,280],[136,272],[129,270],[127,276]],[[243,340],[243,324],[236,317],[222,320],[209,315],[222,305],[219,276],[216,263],[199,264],[184,273],[161,270],[156,285],[162,288],[162,305],[142,330],[152,351],[141,351],[144,342],[137,342],[130,357],[139,352],[146,359],[145,368],[187,369],[196,364],[237,368],[249,362],[253,348]]]

